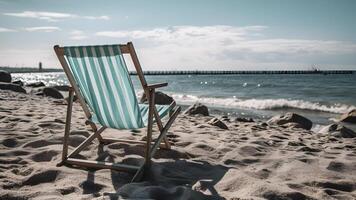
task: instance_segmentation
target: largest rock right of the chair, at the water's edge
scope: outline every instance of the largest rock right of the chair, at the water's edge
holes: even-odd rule
[[[286,113],[284,115],[274,116],[270,120],[268,120],[267,123],[287,125],[288,127],[292,126],[296,128],[303,128],[306,130],[310,130],[313,126],[312,121],[296,113]]]

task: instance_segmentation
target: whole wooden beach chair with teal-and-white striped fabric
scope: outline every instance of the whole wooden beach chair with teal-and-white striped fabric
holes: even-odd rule
[[[138,181],[144,170],[150,166],[151,158],[159,147],[170,149],[166,133],[180,112],[173,102],[170,105],[155,105],[155,90],[167,83],[147,84],[132,42],[120,45],[101,46],[54,46],[56,55],[71,84],[65,131],[63,137],[62,160],[58,164],[69,164],[89,168],[107,168],[134,172],[133,181]],[[138,78],[148,100],[139,104],[127,69],[123,54],[129,54]],[[93,133],[71,153],[68,153],[71,115],[74,93],[83,108]],[[165,125],[162,118],[169,116]],[[159,136],[152,139],[152,126],[157,124]],[[101,134],[106,128],[139,129],[147,127],[146,141],[132,141],[118,138],[104,138]],[[118,136],[120,134],[118,133]],[[143,143],[144,162],[139,166],[123,163],[110,163],[75,158],[94,139],[100,143],[111,142]]]

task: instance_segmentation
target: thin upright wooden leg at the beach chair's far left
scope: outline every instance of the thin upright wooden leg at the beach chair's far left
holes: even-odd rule
[[[64,129],[64,137],[63,137],[62,161],[58,165],[62,165],[63,162],[67,159],[67,155],[68,155],[68,138],[70,133],[70,124],[72,120],[73,97],[74,97],[74,90],[73,88],[69,88],[66,125]]]

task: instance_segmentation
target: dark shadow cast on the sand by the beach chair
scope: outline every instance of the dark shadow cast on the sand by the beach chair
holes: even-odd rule
[[[118,144],[125,155],[143,154],[143,146]],[[141,150],[142,149],[142,150]],[[98,161],[115,162],[115,153],[99,145]],[[222,165],[212,165],[206,161],[187,160],[185,153],[175,149],[157,151],[151,168],[147,171],[142,182],[129,183],[133,174],[111,170],[112,185],[116,192],[106,192],[104,196],[109,199],[175,199],[179,195],[190,194],[191,199],[224,199],[215,190],[217,184],[229,170]],[[165,161],[165,159],[170,159]],[[143,158],[128,158],[123,162],[130,164],[142,162]],[[95,183],[95,170],[89,170],[85,185],[82,186],[83,194],[98,193],[101,185]],[[99,188],[96,188],[99,187]],[[194,188],[194,189],[193,189]],[[204,194],[204,193],[206,194]],[[146,193],[146,194],[144,194]]]

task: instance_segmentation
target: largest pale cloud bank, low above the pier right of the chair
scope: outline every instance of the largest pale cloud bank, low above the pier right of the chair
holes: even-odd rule
[[[133,40],[148,66],[196,66],[216,69],[232,66],[310,66],[356,63],[356,44],[332,40],[267,38],[266,26],[172,26],[148,30],[100,31],[98,37]],[[208,67],[208,68],[206,68]],[[192,69],[192,68],[188,68]]]

